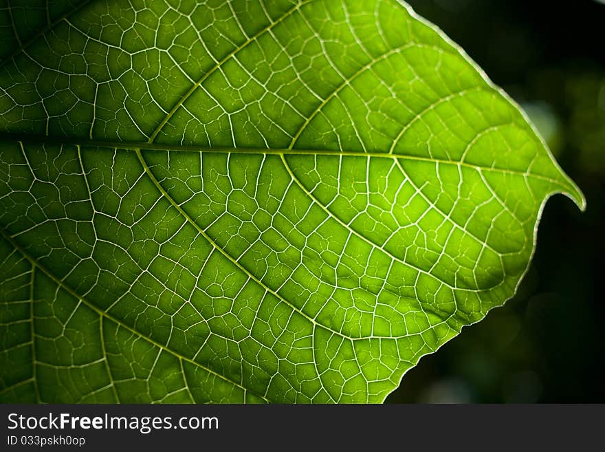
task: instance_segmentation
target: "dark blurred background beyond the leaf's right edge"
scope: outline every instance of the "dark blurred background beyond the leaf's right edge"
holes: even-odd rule
[[[605,402],[605,1],[408,0],[524,107],[585,213],[551,198],[514,299],[421,358],[387,402]]]

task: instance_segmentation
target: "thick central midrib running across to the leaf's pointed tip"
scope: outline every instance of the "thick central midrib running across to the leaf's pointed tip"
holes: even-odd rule
[[[342,156],[342,157],[359,157],[359,158],[388,158],[391,160],[411,160],[415,162],[428,162],[439,164],[450,164],[470,168],[475,171],[494,171],[496,173],[504,173],[511,175],[520,175],[522,177],[531,177],[537,180],[550,182],[564,189],[569,189],[560,180],[553,179],[540,174],[529,173],[527,171],[518,171],[514,169],[498,168],[497,166],[483,166],[468,162],[457,162],[456,160],[444,160],[439,158],[422,157],[420,155],[404,155],[387,152],[364,152],[350,150],[331,150],[331,149],[288,149],[284,148],[258,148],[258,147],[202,147],[196,145],[180,145],[180,144],[165,144],[165,143],[149,143],[149,142],[120,142],[111,140],[89,140],[86,138],[69,138],[69,137],[49,137],[42,135],[28,135],[25,133],[5,133],[0,134],[0,142],[19,142],[21,144],[36,143],[36,144],[55,144],[79,146],[83,148],[104,147],[109,149],[124,149],[125,151],[170,151],[170,152],[190,152],[190,153],[234,153],[248,155],[327,155],[327,156]]]

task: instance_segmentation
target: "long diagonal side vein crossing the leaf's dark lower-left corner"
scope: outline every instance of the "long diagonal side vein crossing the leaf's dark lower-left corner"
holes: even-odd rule
[[[120,327],[122,327],[125,330],[131,332],[132,334],[135,334],[136,336],[138,336],[140,338],[143,338],[148,343],[151,343],[152,345],[155,345],[155,347],[159,347],[159,349],[162,349],[165,352],[168,352],[169,354],[175,356],[176,358],[184,360],[187,363],[195,365],[196,367],[201,367],[201,369],[204,369],[209,374],[217,376],[217,377],[221,378],[221,380],[225,380],[226,382],[231,383],[232,385],[234,385],[236,387],[239,387],[243,391],[250,391],[255,396],[258,396],[258,397],[262,398],[263,400],[265,400],[265,402],[267,402],[267,403],[269,402],[269,400],[267,400],[267,398],[265,398],[264,396],[261,396],[260,394],[256,394],[250,388],[243,387],[242,385],[240,385],[239,383],[234,382],[230,378],[228,378],[228,377],[226,377],[224,375],[221,375],[221,374],[219,374],[217,372],[214,372],[212,369],[209,369],[208,367],[206,367],[206,366],[204,366],[204,365],[202,365],[200,363],[197,363],[196,361],[194,361],[194,360],[192,360],[192,359],[190,359],[190,358],[188,358],[186,356],[182,356],[182,355],[178,354],[177,352],[174,352],[173,350],[171,350],[168,347],[166,347],[166,345],[163,345],[163,344],[155,341],[154,339],[146,336],[145,334],[142,334],[142,332],[139,332],[139,331],[135,330],[133,327],[131,327],[129,325],[126,325],[126,323],[120,321],[120,319],[116,319],[114,316],[112,316],[111,314],[109,314],[109,312],[105,312],[104,310],[98,308],[94,303],[91,303],[91,301],[88,301],[87,299],[83,298],[80,294],[78,294],[72,288],[70,288],[69,286],[67,286],[67,284],[65,284],[64,281],[61,281],[61,279],[58,279],[58,277],[56,277],[52,272],[50,272],[50,270],[48,270],[47,268],[45,268],[45,266],[43,266],[41,263],[39,263],[39,261],[37,261],[36,259],[34,259],[34,257],[32,257],[29,252],[27,252],[21,245],[19,245],[17,243],[17,241],[15,241],[12,237],[10,237],[10,235],[8,235],[7,233],[5,233],[5,231],[2,230],[2,229],[0,229],[0,236],[3,237],[3,239],[5,239],[6,241],[8,241],[8,243],[10,243],[17,251],[19,251],[21,253],[21,255],[23,257],[25,257],[25,259],[28,259],[28,261],[30,261],[30,264],[34,268],[38,268],[47,277],[49,277],[50,279],[52,279],[52,281],[54,283],[56,283],[57,286],[61,287],[63,290],[65,290],[65,292],[69,293],[76,300],[82,301],[82,303],[84,303],[88,308],[90,308],[91,310],[93,310],[94,312],[96,312],[97,314],[99,314],[100,316],[106,318],[109,321],[112,321],[116,325],[119,325]],[[106,356],[104,356],[104,358],[106,358]]]

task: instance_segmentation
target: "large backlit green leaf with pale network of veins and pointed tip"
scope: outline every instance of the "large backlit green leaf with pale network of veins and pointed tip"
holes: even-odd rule
[[[382,402],[514,294],[549,196],[584,208],[396,0],[30,3],[0,10],[3,402]]]

